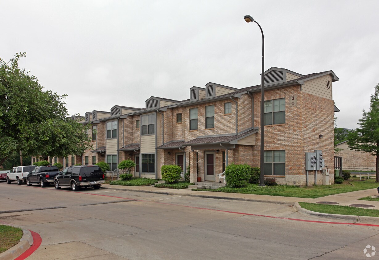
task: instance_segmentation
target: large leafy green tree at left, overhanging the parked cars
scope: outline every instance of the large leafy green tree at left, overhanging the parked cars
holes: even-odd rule
[[[67,95],[44,91],[38,79],[19,68],[26,53],[0,58],[0,165],[15,152],[63,157],[91,148],[89,126],[71,117]]]

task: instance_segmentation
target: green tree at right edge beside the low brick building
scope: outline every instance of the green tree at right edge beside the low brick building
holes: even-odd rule
[[[349,148],[376,156],[376,182],[379,182],[379,83],[370,98],[370,110],[363,110],[359,128],[348,135]]]

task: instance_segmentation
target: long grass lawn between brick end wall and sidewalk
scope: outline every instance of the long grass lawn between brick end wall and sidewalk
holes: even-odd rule
[[[359,179],[359,178],[358,178]],[[357,181],[350,179],[344,181],[342,184],[333,185],[318,185],[312,187],[299,188],[289,185],[277,185],[277,186],[265,186],[261,187],[258,184],[247,184],[243,188],[230,188],[221,187],[217,190],[205,190],[203,191],[215,191],[215,192],[229,192],[229,193],[246,193],[246,194],[259,194],[259,195],[272,195],[272,196],[284,196],[284,197],[298,197],[298,198],[319,198],[327,195],[333,195],[338,193],[345,193],[356,190],[366,190],[370,188],[377,188],[379,184],[373,179],[365,179],[364,181]]]

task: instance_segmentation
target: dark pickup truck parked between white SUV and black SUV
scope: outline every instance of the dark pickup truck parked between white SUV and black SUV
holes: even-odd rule
[[[49,182],[54,182],[54,178],[57,174],[60,174],[61,172],[58,170],[56,166],[40,166],[33,169],[33,171],[30,171],[27,179],[26,184],[28,186],[31,186],[32,184],[39,183],[41,187],[46,187],[46,185]]]

